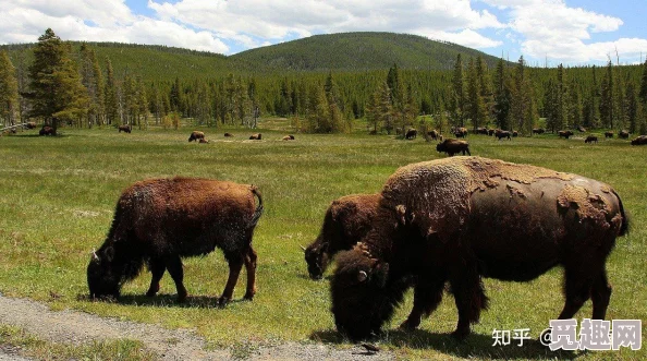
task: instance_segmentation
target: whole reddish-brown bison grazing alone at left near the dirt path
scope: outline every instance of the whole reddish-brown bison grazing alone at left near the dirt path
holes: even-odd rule
[[[263,200],[254,185],[194,178],[137,182],[121,194],[108,237],[93,253],[87,266],[89,294],[118,298],[121,287],[146,263],[152,273],[146,296],[159,291],[159,280],[168,269],[178,301],[183,302],[187,292],[181,257],[219,248],[229,263],[219,304],[231,300],[243,264],[247,270],[244,298],[251,300],[256,292],[252,237],[261,214]]]

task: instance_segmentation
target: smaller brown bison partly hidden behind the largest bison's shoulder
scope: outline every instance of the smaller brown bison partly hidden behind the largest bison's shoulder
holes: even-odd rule
[[[379,200],[380,194],[354,194],[332,201],[319,236],[304,249],[310,278],[321,279],[338,252],[352,249],[366,236]]]

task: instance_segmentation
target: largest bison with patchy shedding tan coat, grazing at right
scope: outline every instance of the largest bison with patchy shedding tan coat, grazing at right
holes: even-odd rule
[[[400,168],[382,189],[371,230],[337,256],[330,282],[337,328],[354,340],[379,332],[414,277],[416,328],[449,281],[464,338],[487,309],[483,277],[529,281],[564,267],[571,318],[593,299],[605,318],[611,287],[606,260],[627,230],[622,202],[607,184],[576,175],[480,157]]]

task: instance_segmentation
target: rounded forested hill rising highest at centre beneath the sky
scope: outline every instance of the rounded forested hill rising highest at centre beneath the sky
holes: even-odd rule
[[[481,56],[490,68],[498,61],[496,57],[460,45],[393,33],[315,35],[230,58],[298,71],[363,71],[389,69],[393,64],[400,69],[450,70],[459,53],[463,59]]]

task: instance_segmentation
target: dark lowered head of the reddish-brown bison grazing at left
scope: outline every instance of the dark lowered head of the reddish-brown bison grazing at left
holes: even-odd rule
[[[114,266],[114,249],[107,246],[99,252],[93,252],[90,263],[87,265],[87,286],[89,297],[119,298],[121,275]]]

